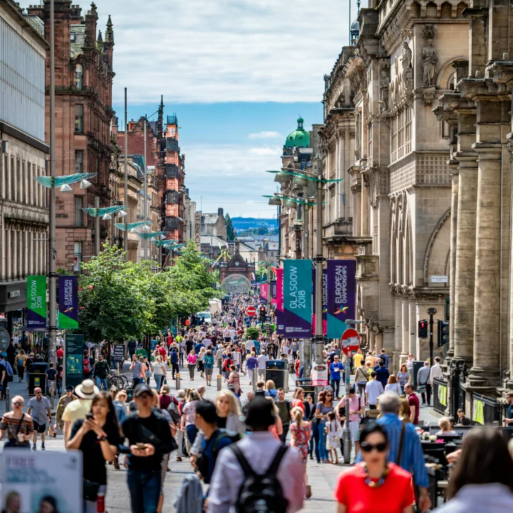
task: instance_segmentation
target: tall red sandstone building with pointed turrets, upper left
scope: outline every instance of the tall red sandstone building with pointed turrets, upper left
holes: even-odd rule
[[[95,172],[92,187],[56,193],[57,267],[70,270],[73,262],[91,256],[95,248],[94,218],[83,207],[109,206],[110,122],[113,118],[114,32],[110,16],[105,40],[98,31],[95,4],[82,16],[82,9],[71,0],[55,0],[55,78],[56,78],[56,174]],[[28,14],[39,16],[50,41],[50,2],[30,6]],[[46,58],[46,140],[49,136],[50,56]],[[105,239],[103,222],[100,239]]]

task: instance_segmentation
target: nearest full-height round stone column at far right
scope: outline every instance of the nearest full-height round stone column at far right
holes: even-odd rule
[[[492,109],[500,103],[486,103]],[[493,109],[495,110],[495,109]],[[489,118],[490,113],[487,113]],[[499,120],[500,118],[497,118]],[[484,130],[489,130],[489,125]],[[485,133],[489,135],[488,132]],[[472,385],[498,385],[500,347],[501,152],[500,142],[476,142],[476,259],[474,293],[474,362]]]

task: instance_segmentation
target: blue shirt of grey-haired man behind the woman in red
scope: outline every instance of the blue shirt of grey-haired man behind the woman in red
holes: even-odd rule
[[[382,425],[388,435],[388,461],[398,463],[397,457],[399,452],[399,443],[401,430],[403,429],[403,421],[400,420],[395,413],[385,413],[376,421]],[[361,462],[361,454],[358,453],[356,462]],[[408,470],[413,475],[415,484],[422,488],[429,486],[427,471],[425,469],[424,453],[420,440],[415,431],[415,426],[411,423],[406,424],[405,435],[403,439],[403,454],[399,463],[400,467]]]

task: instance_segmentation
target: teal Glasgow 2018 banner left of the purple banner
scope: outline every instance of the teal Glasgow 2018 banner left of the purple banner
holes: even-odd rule
[[[279,314],[278,333],[290,338],[311,338],[311,276],[311,260],[284,261],[284,303],[283,312]]]

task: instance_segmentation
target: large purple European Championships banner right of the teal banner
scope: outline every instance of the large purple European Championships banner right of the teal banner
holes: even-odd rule
[[[328,260],[328,338],[341,338],[356,315],[356,261]]]

